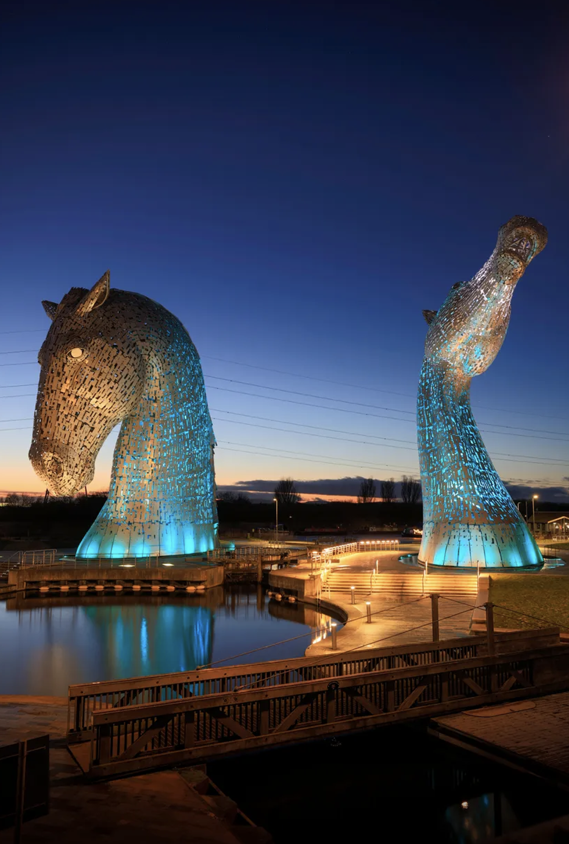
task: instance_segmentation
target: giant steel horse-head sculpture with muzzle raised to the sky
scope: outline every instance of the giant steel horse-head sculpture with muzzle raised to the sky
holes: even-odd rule
[[[547,243],[530,217],[513,217],[473,279],[454,284],[429,330],[417,398],[423,494],[419,560],[427,565],[529,567],[543,558],[498,477],[470,409],[470,381],[491,365],[513,290]]]

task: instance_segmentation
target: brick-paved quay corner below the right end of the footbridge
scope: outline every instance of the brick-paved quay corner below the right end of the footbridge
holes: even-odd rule
[[[432,719],[429,732],[569,789],[569,692]]]

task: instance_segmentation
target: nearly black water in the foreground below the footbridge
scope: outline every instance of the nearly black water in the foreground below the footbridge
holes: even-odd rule
[[[569,794],[483,763],[424,725],[210,762],[207,773],[276,844],[479,844],[569,813]]]

